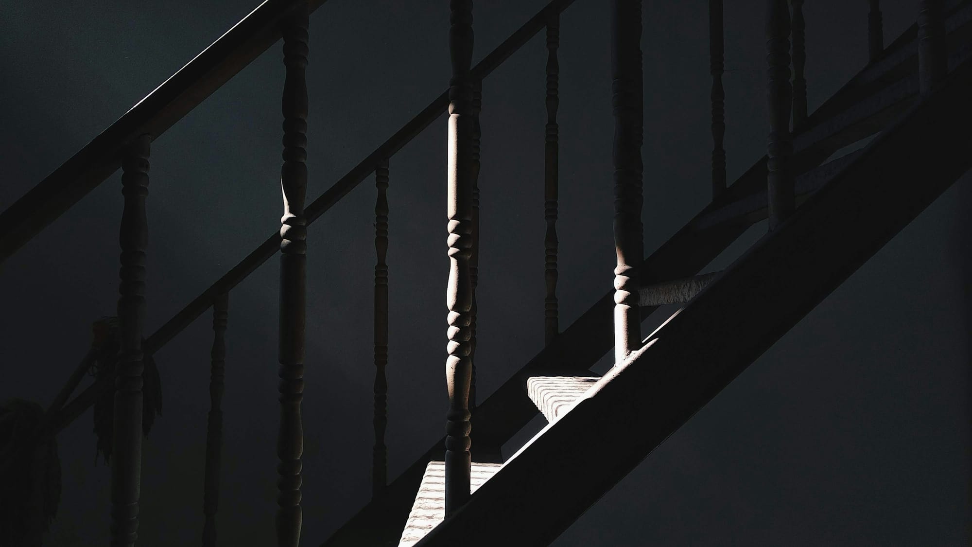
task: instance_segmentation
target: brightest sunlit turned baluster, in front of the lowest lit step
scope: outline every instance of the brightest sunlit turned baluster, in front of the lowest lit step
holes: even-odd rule
[[[472,255],[472,137],[474,116],[469,65],[472,57],[472,1],[451,0],[449,54],[449,357],[446,384],[449,413],[445,437],[445,515],[452,515],[469,499],[469,311],[472,284],[469,259]]]

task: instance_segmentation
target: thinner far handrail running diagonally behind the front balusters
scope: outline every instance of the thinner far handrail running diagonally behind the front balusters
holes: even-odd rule
[[[271,1],[273,0],[267,0],[267,2],[264,2],[263,5],[266,5]],[[326,0],[320,1],[323,3]],[[546,25],[546,20],[550,15],[563,12],[572,3],[573,0],[553,0],[547,4],[538,12],[536,16],[530,18],[530,20],[524,23],[523,26],[513,32],[509,38],[506,38],[502,44],[493,50],[493,52],[483,57],[483,59],[479,61],[479,63],[476,64],[476,66],[472,69],[472,77],[476,80],[482,80],[489,76],[493,70],[503,64],[504,60],[509,58],[510,55],[516,53],[517,50],[519,50],[524,44],[533,38],[534,35],[536,35],[539,30]],[[258,10],[259,9],[260,8],[258,8]],[[254,13],[256,13],[256,11]],[[445,112],[448,105],[448,92],[445,91],[435,97],[429,106],[425,107],[414,118],[399,128],[395,134],[378,146],[374,152],[365,157],[361,163],[355,165],[350,171],[348,171],[347,174],[338,179],[338,181],[334,183],[333,186],[331,186],[324,194],[322,194],[321,197],[307,205],[307,224],[309,225],[320,218],[320,216],[327,212],[331,206],[333,206],[337,201],[340,201],[341,198],[358,186],[358,184],[360,184],[374,171],[378,162],[393,156],[403,146],[415,138],[415,136],[422,132],[423,129],[432,125],[435,119]],[[280,234],[274,233],[265,241],[260,243],[260,246],[254,249],[249,255],[247,255],[246,258],[241,260],[229,272],[220,277],[216,282],[210,285],[209,288],[193,299],[189,305],[173,315],[172,318],[159,327],[152,336],[148,337],[142,345],[145,352],[148,354],[155,353],[159,348],[168,344],[169,341],[181,333],[183,329],[189,326],[192,321],[199,317],[199,315],[201,315],[205,310],[208,310],[213,305],[214,299],[218,295],[228,292],[230,289],[238,285],[248,275],[260,268],[260,265],[269,260],[270,257],[276,254],[279,250]],[[0,259],[2,259],[2,255],[0,255]],[[87,408],[94,403],[98,396],[112,384],[112,382],[114,382],[114,377],[109,376],[103,378],[97,383],[89,385],[71,402],[66,404],[61,412],[58,413],[53,419],[54,430],[59,431],[60,429],[63,429],[74,419],[81,416],[87,410]]]

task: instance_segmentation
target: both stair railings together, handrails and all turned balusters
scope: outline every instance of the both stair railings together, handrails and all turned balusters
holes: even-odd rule
[[[456,370],[458,374],[449,377],[450,386],[455,389],[457,404],[453,407],[450,417],[458,418],[458,427],[451,427],[450,435],[458,439],[458,463],[460,466],[469,460],[469,408],[471,378],[473,367],[471,354],[474,348],[474,269],[477,258],[475,241],[477,237],[476,224],[478,222],[478,190],[475,177],[478,172],[478,109],[480,99],[476,90],[482,78],[487,76],[496,66],[499,66],[509,55],[517,51],[527,40],[546,27],[548,32],[547,48],[547,139],[545,153],[545,217],[548,221],[548,232],[545,240],[547,269],[545,277],[550,278],[553,270],[553,283],[547,282],[547,299],[545,310],[551,308],[550,315],[545,313],[544,338],[548,345],[556,335],[556,89],[557,66],[556,49],[559,42],[558,15],[570,4],[570,0],[554,0],[548,4],[534,18],[497,48],[487,55],[476,67],[470,66],[471,56],[471,2],[457,1],[453,3],[455,29],[451,40],[453,52],[453,77],[448,94],[443,93],[430,104],[422,113],[410,121],[405,127],[393,135],[381,147],[352,169],[345,177],[330,188],[324,196],[313,201],[306,209],[303,206],[306,187],[306,169],[303,161],[306,156],[304,136],[306,131],[306,85],[303,78],[303,67],[307,55],[307,16],[324,0],[303,3],[284,2],[283,0],[267,0],[248,18],[245,18],[232,30],[226,33],[217,43],[200,54],[193,61],[174,75],[163,86],[150,94],[136,105],[119,122],[99,135],[79,154],[54,171],[51,176],[35,187],[23,199],[17,201],[10,209],[0,215],[0,260],[9,257],[17,248],[30,237],[36,235],[43,227],[80,200],[87,192],[104,180],[121,164],[122,193],[124,195],[124,212],[121,222],[121,286],[119,301],[119,317],[121,321],[121,359],[118,374],[95,383],[70,403],[64,404],[70,393],[80,383],[84,376],[84,367],[89,359],[83,360],[69,379],[49,411],[52,430],[56,431],[71,420],[76,419],[93,400],[104,390],[110,388],[110,383],[116,386],[116,409],[124,412],[116,413],[114,451],[115,458],[112,468],[112,499],[113,499],[113,544],[130,545],[137,537],[138,526],[138,489],[141,435],[141,369],[144,355],[151,355],[159,347],[164,346],[174,336],[181,332],[188,324],[197,318],[204,310],[214,309],[214,345],[212,350],[211,402],[210,421],[207,433],[206,480],[204,513],[206,524],[204,528],[205,544],[215,543],[215,514],[216,499],[219,483],[219,444],[222,428],[222,410],[220,401],[223,392],[223,375],[225,367],[225,331],[228,292],[243,278],[252,273],[272,256],[277,248],[282,250],[282,283],[281,283],[281,396],[282,417],[280,437],[278,439],[278,454],[281,464],[280,474],[280,511],[278,512],[277,530],[278,543],[281,545],[296,545],[300,530],[300,452],[302,446],[302,431],[300,426],[299,402],[302,397],[302,351],[303,351],[303,314],[304,314],[304,252],[305,227],[321,214],[326,212],[332,204],[339,201],[351,189],[356,187],[371,172],[376,173],[378,199],[376,201],[376,284],[375,284],[375,450],[374,469],[375,486],[373,492],[377,495],[384,485],[378,486],[379,480],[387,481],[387,471],[380,469],[384,455],[383,435],[386,417],[379,417],[379,411],[384,413],[384,397],[387,384],[384,382],[384,367],[387,364],[387,265],[385,252],[387,251],[387,187],[388,162],[401,146],[411,140],[421,130],[432,124],[434,119],[450,103],[450,141],[455,146],[455,154],[450,154],[450,203],[458,206],[455,211],[450,210],[450,258],[453,258],[453,275],[450,275],[450,294],[456,299],[450,306],[450,359],[461,364]],[[711,22],[718,20],[719,29],[713,30],[712,37],[712,127],[713,127],[713,194],[721,192],[717,187],[719,165],[716,152],[721,150],[721,133],[716,136],[716,127],[721,121],[721,111],[716,111],[716,85],[721,90],[721,3],[713,7],[718,0],[712,0],[710,5]],[[922,0],[919,18],[919,60],[921,94],[925,95],[937,86],[945,75],[946,57],[944,45],[943,9],[938,0]],[[802,2],[793,0],[794,10],[792,20],[794,28],[794,70],[797,81],[803,80],[803,61],[797,61],[797,55],[803,54],[803,18],[800,11]],[[871,4],[869,17],[869,44],[873,47],[881,36],[880,10],[877,2]],[[637,8],[637,13],[636,12]],[[788,36],[790,34],[790,14],[785,0],[768,0],[767,37],[768,59],[770,63],[769,100],[771,111],[771,138],[768,193],[771,229],[784,222],[795,206],[793,196],[793,171],[787,163],[791,139],[789,130],[789,112],[793,108],[794,127],[806,121],[806,94],[788,94],[789,65],[788,65]],[[258,14],[260,17],[255,17]],[[621,2],[615,0],[612,25],[613,49],[612,74],[615,82],[615,243],[618,248],[618,270],[615,271],[615,288],[620,300],[615,300],[615,339],[624,344],[617,344],[625,352],[640,344],[640,317],[638,313],[639,298],[642,291],[638,289],[637,276],[633,272],[635,266],[642,263],[642,227],[641,227],[641,171],[640,147],[642,139],[641,128],[641,52],[638,47],[641,27],[641,9],[638,3]],[[877,17],[874,15],[877,14]],[[469,19],[469,20],[468,20]],[[269,21],[269,22],[267,22]],[[799,22],[797,22],[799,21]],[[877,21],[877,24],[875,24]],[[637,23],[637,24],[636,24]],[[469,28],[465,28],[469,26]],[[458,27],[458,28],[457,28]],[[230,38],[226,38],[226,37]],[[207,291],[196,298],[186,309],[180,311],[156,333],[146,340],[142,340],[144,322],[144,258],[147,228],[145,218],[145,198],[148,187],[149,148],[150,142],[181,119],[192,107],[206,95],[218,89],[223,83],[245,66],[252,58],[259,55],[258,46],[266,43],[265,47],[284,38],[285,64],[287,66],[287,81],[284,91],[284,167],[282,169],[282,187],[285,198],[285,215],[279,235],[267,239],[257,250],[249,255],[237,267],[214,283]],[[716,39],[719,47],[715,48]],[[221,41],[223,41],[221,43]],[[798,44],[799,43],[799,44]],[[265,47],[263,49],[265,50]],[[636,54],[637,51],[637,54]],[[716,55],[718,54],[718,55]],[[221,56],[222,55],[222,56]],[[717,57],[717,62],[716,62]],[[637,62],[636,59],[637,58]],[[199,60],[203,59],[203,60]],[[196,64],[193,64],[196,63]],[[799,68],[797,64],[799,63]],[[636,66],[637,65],[637,66]],[[718,67],[716,69],[716,67]],[[784,73],[785,72],[785,73]],[[171,83],[171,84],[170,84]],[[166,87],[168,86],[168,87]],[[163,90],[163,91],[160,91]],[[156,94],[157,93],[157,94]],[[451,99],[451,100],[450,100]],[[796,101],[792,103],[791,100]],[[193,102],[194,101],[194,102]],[[721,101],[721,97],[719,97]],[[798,104],[799,103],[799,104]],[[721,106],[721,104],[720,104]],[[136,114],[132,114],[136,113]],[[718,116],[717,116],[718,114]],[[129,117],[129,115],[131,115]],[[468,120],[462,120],[466,116]],[[454,117],[454,118],[453,118]],[[718,119],[717,119],[718,118]],[[799,118],[799,122],[797,119]],[[152,128],[153,131],[146,132]],[[552,128],[552,131],[551,131]],[[723,129],[724,130],[724,129]],[[474,144],[473,144],[474,143]],[[550,145],[553,144],[553,147]],[[553,152],[551,152],[551,150]],[[637,161],[636,161],[637,156]],[[453,160],[455,157],[455,160]],[[723,154],[724,157],[724,154]],[[551,160],[552,159],[552,160]],[[777,168],[774,168],[776,165]],[[620,174],[618,174],[620,171]],[[724,179],[724,160],[721,165],[721,177]],[[551,180],[553,184],[551,186]],[[722,182],[724,187],[724,180]],[[551,191],[552,188],[552,191]],[[550,198],[553,198],[552,200]],[[553,214],[549,202],[553,201]],[[551,217],[552,221],[551,222]],[[382,222],[384,218],[384,222]],[[383,225],[383,228],[381,227]],[[619,230],[617,226],[620,226]],[[549,235],[553,233],[553,237]],[[553,268],[550,268],[550,240],[553,241]],[[452,252],[452,249],[456,249]],[[638,273],[643,275],[643,273]],[[454,277],[454,278],[453,278]],[[619,278],[624,277],[619,280]],[[384,285],[384,289],[381,288]],[[622,294],[623,293],[623,294]],[[632,295],[634,297],[632,298]],[[620,311],[618,311],[620,309]],[[382,322],[380,315],[384,315]],[[550,318],[554,321],[550,321]],[[550,325],[553,325],[553,328]],[[553,334],[551,334],[553,333]],[[453,351],[455,349],[455,351]],[[384,360],[382,360],[382,354]],[[450,362],[452,362],[450,361]],[[455,364],[455,363],[453,363]],[[79,371],[81,374],[79,374]],[[458,389],[456,386],[458,385]],[[452,393],[450,393],[452,395]],[[452,397],[451,397],[452,398]],[[474,401],[474,399],[473,399]],[[379,405],[381,403],[381,405]],[[63,404],[63,407],[61,406]],[[453,434],[454,433],[454,434]],[[448,437],[448,436],[447,436]],[[447,451],[448,451],[447,439]],[[447,456],[447,461],[449,457]],[[447,472],[447,476],[449,473]],[[464,481],[462,473],[459,476],[459,490],[453,498],[458,500],[453,507],[458,508],[468,497],[463,492]],[[468,473],[467,473],[468,475]]]

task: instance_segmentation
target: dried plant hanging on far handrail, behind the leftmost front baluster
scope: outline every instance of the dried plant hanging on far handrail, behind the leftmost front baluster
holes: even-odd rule
[[[98,350],[92,374],[97,380],[115,374],[121,351],[121,328],[118,317],[102,317],[94,324],[94,345]],[[142,358],[142,433],[148,435],[156,416],[162,415],[162,383],[156,360],[150,354]],[[115,420],[115,389],[106,390],[92,409],[94,434],[97,436],[95,460],[100,454],[108,463],[112,456],[112,433]]]

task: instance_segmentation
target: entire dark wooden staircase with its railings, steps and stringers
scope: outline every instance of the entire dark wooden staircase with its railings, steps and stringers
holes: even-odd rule
[[[560,331],[556,300],[557,48],[559,15],[572,2],[550,2],[496,51],[470,66],[471,3],[453,1],[450,89],[304,207],[306,28],[309,14],[323,3],[267,0],[0,214],[0,260],[8,260],[64,210],[122,169],[125,211],[118,368],[72,399],[99,358],[92,345],[49,410],[38,418],[37,435],[31,441],[35,444],[17,449],[40,453],[36,443],[50,442],[114,389],[116,408],[123,412],[114,425],[113,544],[134,544],[138,524],[142,424],[138,379],[143,365],[150,361],[142,355],[151,356],[212,308],[214,395],[206,455],[203,544],[215,545],[216,504],[210,500],[219,493],[228,293],[277,250],[282,251],[277,533],[279,545],[298,544],[304,227],[372,172],[379,191],[375,206],[374,495],[323,547],[396,542],[419,547],[550,543],[972,166],[972,133],[968,131],[972,125],[972,102],[968,100],[972,96],[972,0],[920,2],[919,23],[886,48],[878,3],[872,2],[870,62],[813,113],[807,112],[803,81],[803,2],[768,0],[769,157],[727,185],[720,132],[724,130],[722,8],[721,0],[712,0],[712,201],[675,236],[642,258],[641,11],[639,3],[615,0],[617,290]],[[490,72],[544,29],[549,116],[545,158],[547,345],[474,406],[470,402],[475,398],[469,392],[474,389],[479,89]],[[144,188],[148,185],[150,143],[280,38],[287,66],[281,232],[143,340],[140,290],[144,290],[144,279],[139,268],[144,273],[140,260],[144,260],[145,249],[140,241],[147,234]],[[452,114],[449,425],[443,440],[388,482],[383,444],[387,422],[383,359],[387,360],[388,288],[383,249],[388,245],[384,194],[388,161],[446,108]],[[864,148],[833,158],[835,152],[868,137],[874,138]],[[770,231],[743,256],[724,271],[701,273],[748,228],[764,219],[770,220]],[[672,304],[683,307],[650,335],[642,336],[642,319],[658,307]],[[603,376],[593,375],[589,369],[612,347],[617,356],[614,367]],[[498,447],[538,412],[548,424],[515,455],[505,460],[499,457]],[[473,427],[471,450],[469,422]],[[444,454],[443,447],[447,447]],[[38,461],[32,465],[41,465]],[[44,485],[32,483],[30,488],[36,493]],[[134,507],[134,513],[120,511],[120,507]],[[22,544],[40,544],[37,527],[41,521],[36,516],[25,521],[33,528],[22,532]]]

